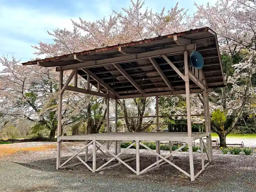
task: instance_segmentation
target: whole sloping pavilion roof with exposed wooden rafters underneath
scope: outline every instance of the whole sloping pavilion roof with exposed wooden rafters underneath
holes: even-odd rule
[[[204,89],[210,92],[212,88],[225,86],[217,36],[207,27],[23,65],[56,67],[56,71],[75,69],[98,91],[68,85],[66,89],[101,97],[176,95],[185,94],[184,52],[189,55],[193,50],[202,54],[204,66],[202,69],[189,66],[190,93],[202,93]]]

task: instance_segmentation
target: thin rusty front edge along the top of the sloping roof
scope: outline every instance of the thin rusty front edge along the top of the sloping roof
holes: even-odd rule
[[[161,39],[173,38],[173,35],[183,36],[183,35],[186,35],[188,33],[199,33],[199,32],[209,31],[209,30],[211,30],[209,27],[202,27],[202,28],[199,28],[199,29],[194,29],[194,30],[189,30],[189,31],[182,31],[182,32],[179,32],[179,33],[173,33],[173,34],[169,34],[169,35],[163,35],[163,36],[159,36],[159,37],[143,39],[143,40],[140,40],[140,41],[128,42],[128,43],[124,43],[124,44],[120,44],[120,45],[106,46],[104,48],[96,48],[96,49],[91,49],[91,50],[85,50],[85,51],[82,51],[82,52],[64,54],[64,55],[61,55],[61,56],[50,57],[50,58],[45,58],[45,59],[40,59],[40,60],[35,60],[35,61],[27,61],[25,63],[22,63],[22,65],[37,65],[37,61],[38,62],[49,62],[49,61],[53,61],[53,60],[59,60],[59,59],[67,58],[67,57],[72,57],[74,55],[97,53],[97,52],[102,52],[102,51],[106,51],[106,50],[118,49],[119,46],[124,48],[124,47],[127,47],[127,46],[139,45],[139,44],[143,44],[143,43],[147,43],[147,42],[158,41],[158,40],[161,40]]]

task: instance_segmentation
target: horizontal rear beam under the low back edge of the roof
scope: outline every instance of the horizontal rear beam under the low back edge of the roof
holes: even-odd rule
[[[207,89],[207,92],[212,92],[212,89]],[[192,89],[190,93],[203,93],[202,89]],[[134,95],[121,95],[117,96],[117,99],[130,99],[138,97],[155,97],[155,96],[165,96],[165,95],[182,95],[186,94],[185,90],[182,91],[166,91],[166,92],[156,92],[156,93],[146,93],[146,94],[134,94]]]

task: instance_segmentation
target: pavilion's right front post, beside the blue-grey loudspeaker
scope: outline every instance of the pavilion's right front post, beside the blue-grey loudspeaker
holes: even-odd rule
[[[195,180],[194,174],[194,160],[193,160],[193,149],[192,149],[192,128],[191,128],[191,112],[190,112],[190,90],[189,90],[189,76],[188,76],[188,53],[184,51],[184,67],[185,67],[185,88],[186,88],[186,106],[187,106],[187,123],[188,123],[188,137],[191,138],[188,143],[189,149],[189,165],[190,165],[190,178],[191,181]]]

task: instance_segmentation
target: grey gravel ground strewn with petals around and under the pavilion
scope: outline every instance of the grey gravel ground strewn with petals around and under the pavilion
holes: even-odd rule
[[[24,148],[53,144],[52,142],[28,142],[7,144],[9,147]],[[55,143],[56,144],[56,143]],[[82,143],[67,143],[78,151]],[[254,143],[256,144],[256,142]],[[7,145],[1,145],[5,147]],[[246,146],[246,145],[245,145]],[[111,148],[113,151],[113,148]],[[89,154],[91,147],[89,148]],[[134,154],[134,149],[126,151]],[[140,150],[141,170],[155,162],[155,156],[147,150]],[[168,154],[161,151],[162,155]],[[64,162],[71,153],[62,148]],[[97,153],[100,155],[100,153]],[[100,157],[100,156],[99,156]],[[83,157],[81,157],[83,158]],[[72,159],[70,163],[79,162]],[[173,163],[189,172],[189,157],[187,152],[175,155]],[[97,162],[97,167],[104,162]],[[92,166],[92,163],[88,163]],[[109,163],[109,165],[112,165]],[[136,168],[135,161],[128,165]],[[194,153],[195,173],[201,169],[200,153]],[[46,151],[19,151],[15,154],[0,157],[0,191],[13,192],[256,192],[256,151],[252,155],[224,155],[220,150],[213,150],[213,161],[206,171],[196,178],[189,179],[170,165],[162,165],[141,176],[136,176],[124,165],[104,170],[102,175],[91,173],[83,165],[73,170],[56,170],[56,149]]]

